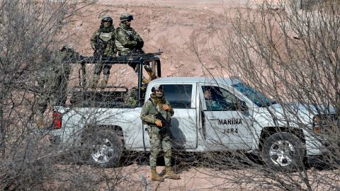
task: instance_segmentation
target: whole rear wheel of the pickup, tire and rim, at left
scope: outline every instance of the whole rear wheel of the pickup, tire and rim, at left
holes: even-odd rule
[[[83,137],[83,158],[91,166],[110,168],[118,166],[123,153],[123,143],[117,134],[96,129],[86,132]]]

